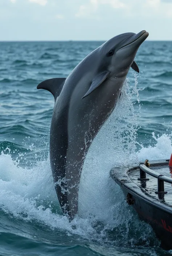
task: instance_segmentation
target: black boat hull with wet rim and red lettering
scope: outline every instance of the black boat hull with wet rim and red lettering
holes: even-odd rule
[[[166,160],[163,161],[163,164],[168,164]],[[162,164],[160,161],[152,161],[152,164],[155,165],[159,163]],[[161,241],[161,247],[166,250],[172,249],[172,207],[163,204],[161,200],[153,199],[149,193],[146,194],[131,181],[128,177],[128,171],[130,172],[137,168],[139,167],[113,168],[110,176],[120,185],[126,196],[127,203],[134,207],[140,219],[152,226],[157,238]]]

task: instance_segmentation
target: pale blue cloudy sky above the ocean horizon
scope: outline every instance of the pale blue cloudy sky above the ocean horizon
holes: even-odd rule
[[[172,40],[172,0],[0,0],[0,41]]]

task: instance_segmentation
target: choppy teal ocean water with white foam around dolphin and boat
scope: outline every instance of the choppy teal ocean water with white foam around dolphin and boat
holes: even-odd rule
[[[39,82],[66,77],[103,42],[0,42],[0,255],[170,255],[110,178],[114,165],[172,153],[172,42],[146,41],[83,166],[79,214],[62,215],[49,162],[54,99]]]

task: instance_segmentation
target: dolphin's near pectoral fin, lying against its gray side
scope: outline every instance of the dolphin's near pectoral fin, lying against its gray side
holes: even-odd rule
[[[87,91],[87,93],[82,97],[85,98],[88,96],[90,93],[92,93],[99,85],[102,84],[103,81],[107,78],[107,76],[110,74],[110,71],[106,70],[103,71],[102,73],[99,73],[94,79],[93,82],[90,86],[90,89]]]

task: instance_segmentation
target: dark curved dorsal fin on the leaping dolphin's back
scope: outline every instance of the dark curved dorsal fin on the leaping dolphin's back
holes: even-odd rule
[[[45,89],[53,94],[56,101],[57,97],[60,95],[62,87],[65,83],[66,78],[52,78],[45,80],[38,84],[37,89]]]

